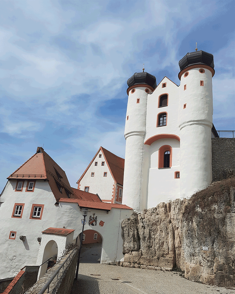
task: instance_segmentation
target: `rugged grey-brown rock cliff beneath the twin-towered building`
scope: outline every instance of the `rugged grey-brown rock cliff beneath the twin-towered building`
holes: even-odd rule
[[[235,285],[235,178],[132,214],[122,232],[123,266],[177,267],[195,282]]]

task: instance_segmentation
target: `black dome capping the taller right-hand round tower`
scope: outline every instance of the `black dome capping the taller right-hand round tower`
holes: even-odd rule
[[[212,54],[202,50],[187,53],[179,61],[180,71],[194,64],[206,64],[214,69],[214,57]]]

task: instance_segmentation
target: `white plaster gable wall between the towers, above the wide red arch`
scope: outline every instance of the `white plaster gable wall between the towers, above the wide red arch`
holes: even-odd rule
[[[167,86],[162,88],[162,83],[167,83]],[[168,93],[168,106],[158,108],[158,97],[164,93]],[[158,134],[179,136],[178,107],[179,87],[165,77],[153,93],[148,95],[145,141]],[[167,125],[156,127],[157,115],[160,112],[167,112]]]

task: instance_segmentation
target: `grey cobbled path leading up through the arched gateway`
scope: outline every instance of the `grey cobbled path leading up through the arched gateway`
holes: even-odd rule
[[[235,294],[235,289],[194,283],[177,272],[100,264],[100,250],[101,244],[83,245],[71,294]]]

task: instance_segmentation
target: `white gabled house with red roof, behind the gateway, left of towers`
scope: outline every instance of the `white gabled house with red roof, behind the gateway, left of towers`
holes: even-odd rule
[[[125,159],[100,147],[77,181],[78,189],[98,193],[103,202],[122,203]]]

